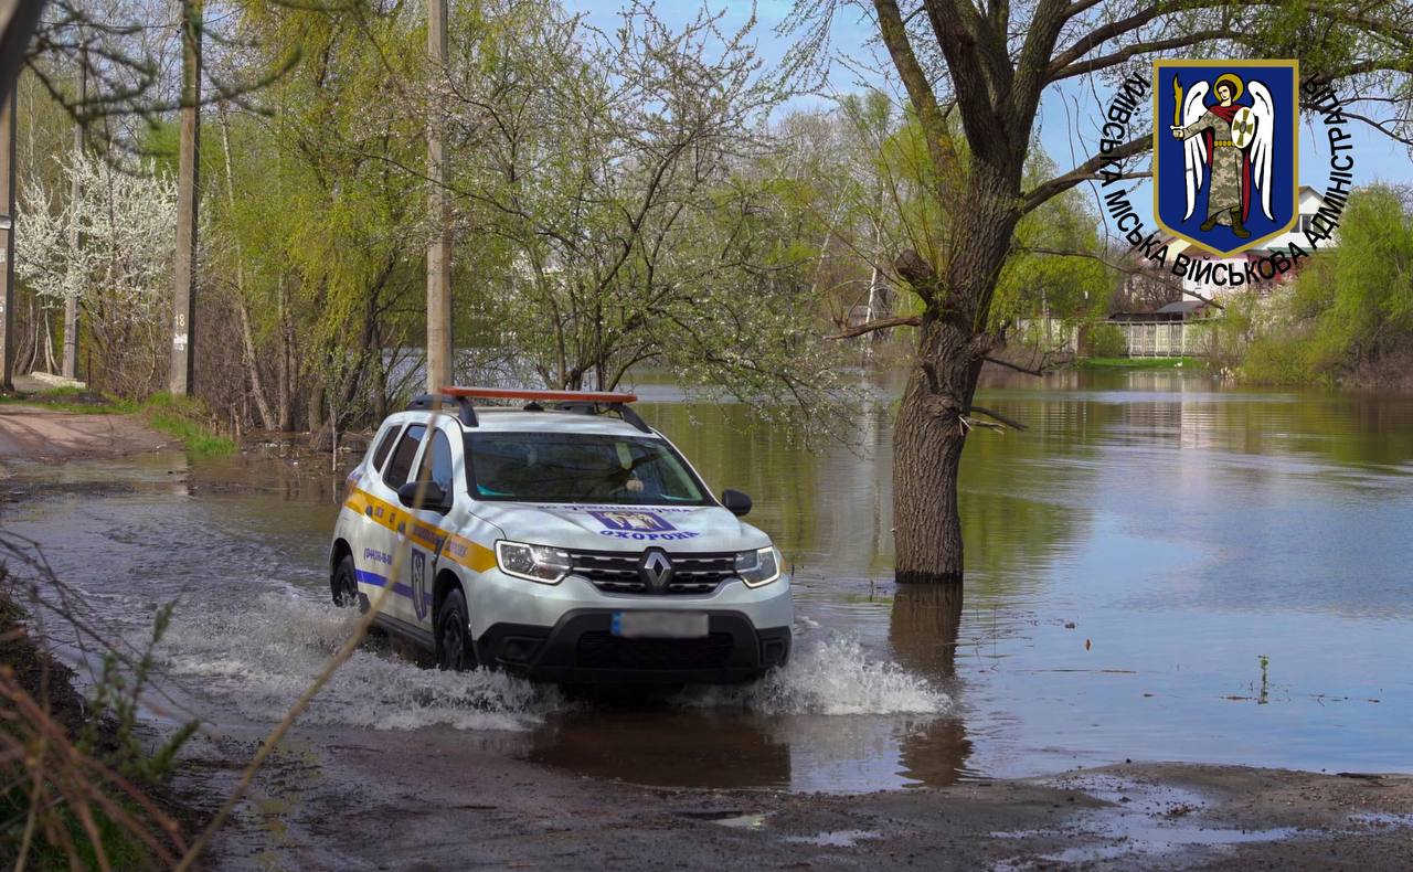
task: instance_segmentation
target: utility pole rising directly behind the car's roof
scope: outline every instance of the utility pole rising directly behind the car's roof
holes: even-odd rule
[[[434,81],[447,71],[447,0],[427,0],[427,51]],[[447,199],[447,148],[437,90],[427,105],[427,201],[431,243],[427,246],[427,391],[451,384],[451,204]]]

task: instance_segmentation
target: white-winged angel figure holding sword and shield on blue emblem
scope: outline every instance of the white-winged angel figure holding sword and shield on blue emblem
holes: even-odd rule
[[[1207,192],[1207,220],[1202,230],[1217,225],[1228,225],[1238,239],[1251,237],[1246,220],[1251,218],[1251,201],[1259,191],[1260,209],[1270,215],[1270,153],[1273,146],[1276,114],[1270,90],[1258,81],[1243,86],[1234,73],[1217,76],[1211,93],[1217,103],[1207,105],[1207,82],[1198,82],[1183,98],[1183,86],[1173,76],[1176,98],[1173,137],[1183,140],[1183,164],[1186,170],[1187,213],[1193,216],[1197,206],[1197,192],[1204,175],[1211,178]],[[1251,95],[1251,105],[1238,100],[1242,92]]]

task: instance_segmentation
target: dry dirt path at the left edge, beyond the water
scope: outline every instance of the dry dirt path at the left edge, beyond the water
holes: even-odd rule
[[[133,416],[79,414],[44,406],[0,404],[0,465],[141,454],[172,440]]]

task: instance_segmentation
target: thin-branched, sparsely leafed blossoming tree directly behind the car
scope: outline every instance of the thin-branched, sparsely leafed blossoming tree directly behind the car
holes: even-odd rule
[[[784,90],[749,25],[719,23],[674,28],[633,4],[605,34],[524,3],[502,44],[459,41],[452,189],[503,252],[482,283],[487,329],[555,387],[608,390],[654,365],[834,427],[812,261],[757,172]]]

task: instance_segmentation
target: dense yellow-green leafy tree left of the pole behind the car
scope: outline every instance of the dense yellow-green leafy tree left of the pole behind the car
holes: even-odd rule
[[[305,58],[252,109],[220,107],[216,266],[236,294],[253,367],[276,384],[273,424],[382,413],[415,319],[425,189],[418,82],[424,34],[396,8],[247,7],[247,75]],[[273,358],[273,366],[270,366]],[[261,406],[268,406],[264,399]],[[271,423],[267,421],[267,425]]]

